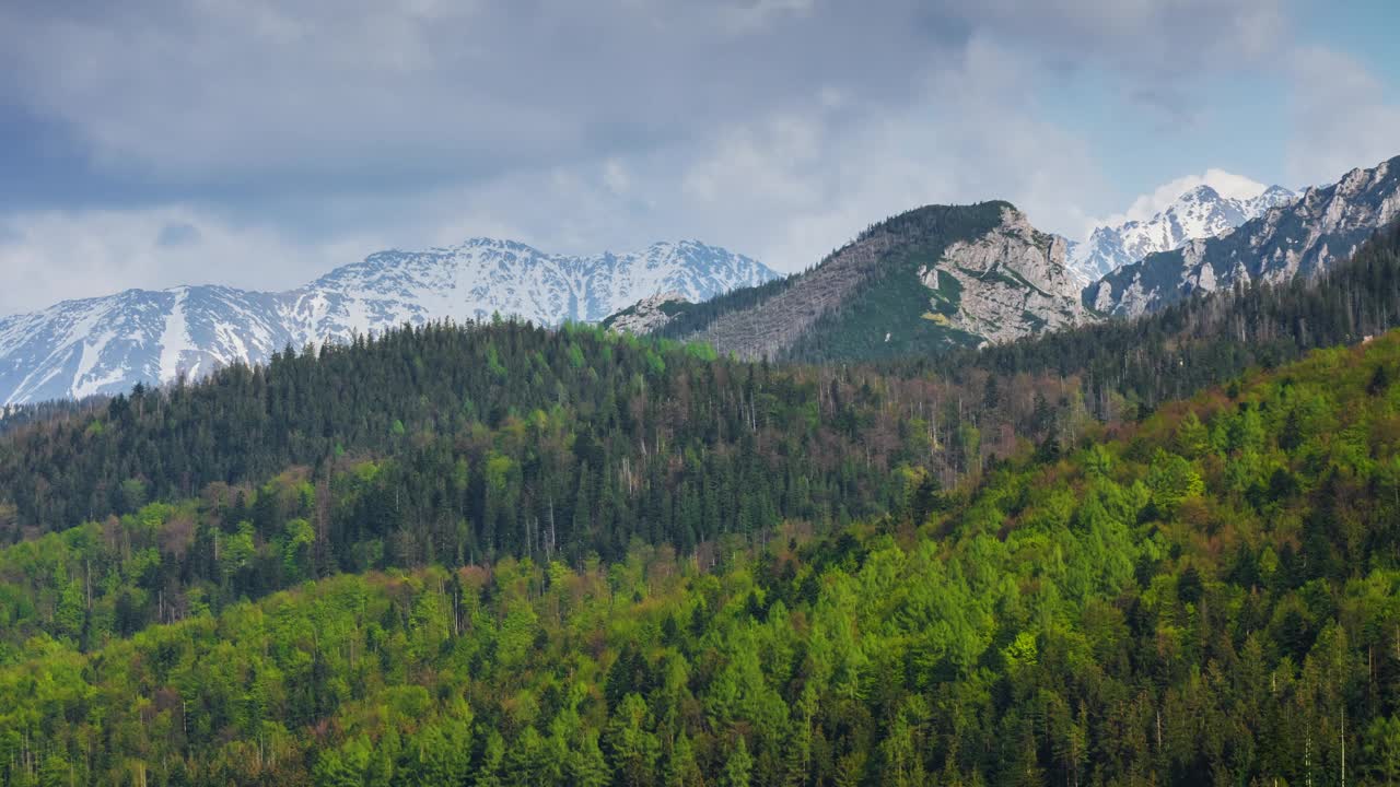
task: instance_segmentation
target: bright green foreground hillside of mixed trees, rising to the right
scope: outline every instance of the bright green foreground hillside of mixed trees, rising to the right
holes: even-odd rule
[[[41,634],[0,669],[0,774],[1387,783],[1397,379],[1400,335],[1317,351],[976,490],[893,473],[889,515],[735,536],[714,571],[637,545],[325,580],[92,654]],[[81,626],[74,588],[50,613]]]

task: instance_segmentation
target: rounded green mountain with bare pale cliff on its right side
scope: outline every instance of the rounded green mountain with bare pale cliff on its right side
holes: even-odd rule
[[[900,214],[781,287],[701,304],[665,330],[748,358],[869,360],[1085,319],[1064,239],[990,202]]]

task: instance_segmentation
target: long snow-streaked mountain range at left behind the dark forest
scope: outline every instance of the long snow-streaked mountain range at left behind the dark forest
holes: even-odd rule
[[[477,238],[379,252],[287,293],[127,290],[0,318],[0,403],[118,394],[406,322],[494,314],[545,325],[596,322],[657,293],[706,300],[777,276],[694,241],[578,258]]]

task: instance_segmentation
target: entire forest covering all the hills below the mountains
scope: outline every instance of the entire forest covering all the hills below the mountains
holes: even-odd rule
[[[1397,251],[923,361],[428,325],[28,416],[0,784],[1393,783]]]

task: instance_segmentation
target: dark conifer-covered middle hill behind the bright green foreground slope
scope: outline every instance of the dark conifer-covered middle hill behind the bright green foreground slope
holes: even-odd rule
[[[0,664],[36,633],[99,648],[336,573],[577,569],[634,542],[708,567],[727,536],[830,532],[889,511],[906,472],[951,486],[1089,426],[1072,379],[1018,385],[503,322],[137,389],[0,441],[0,534],[20,542],[0,553]]]

